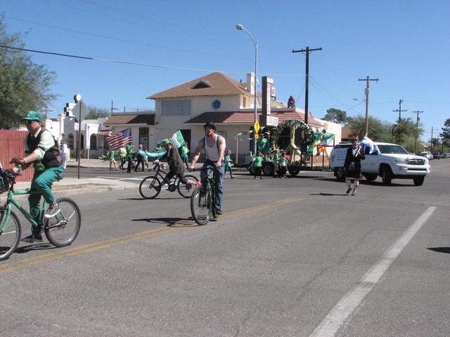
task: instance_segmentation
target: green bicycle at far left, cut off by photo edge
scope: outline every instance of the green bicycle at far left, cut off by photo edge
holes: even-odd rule
[[[15,176],[15,173],[11,171],[0,169],[0,193],[8,191],[4,205],[0,206],[0,260],[5,260],[14,253],[19,245],[22,232],[19,218],[12,211],[11,204],[34,227],[39,227],[30,213],[25,211],[20,202],[15,199],[16,195],[29,195],[34,194],[34,192],[31,192],[30,189],[15,191]],[[39,223],[42,225],[41,228],[44,228],[45,235],[51,244],[57,247],[69,246],[79,233],[82,216],[77,204],[72,199],[60,198],[56,202],[60,206],[60,212],[53,218],[48,219],[44,218],[44,213],[49,205],[44,200],[41,206]]]

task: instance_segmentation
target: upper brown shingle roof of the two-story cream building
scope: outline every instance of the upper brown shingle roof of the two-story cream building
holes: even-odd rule
[[[193,87],[199,82],[209,84],[209,88]],[[211,96],[211,95],[251,95],[245,90],[247,84],[240,83],[236,79],[222,74],[221,72],[213,72],[204,77],[194,79],[185,84],[175,86],[166,91],[155,93],[148,96],[147,99],[156,100],[157,98],[179,98],[179,97],[193,97],[193,96]]]

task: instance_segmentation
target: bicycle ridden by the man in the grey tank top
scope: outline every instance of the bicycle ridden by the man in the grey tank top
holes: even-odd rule
[[[212,177],[207,175],[202,185],[195,187],[191,195],[191,214],[195,223],[206,225],[211,216],[216,218],[216,184],[219,176],[217,169],[212,170]]]

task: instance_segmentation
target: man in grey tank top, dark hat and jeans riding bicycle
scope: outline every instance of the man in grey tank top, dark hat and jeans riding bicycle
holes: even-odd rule
[[[200,180],[204,181],[205,176],[208,176],[210,171],[217,170],[216,180],[216,214],[222,213],[222,199],[224,197],[224,176],[225,170],[222,165],[222,159],[224,158],[226,140],[224,137],[217,135],[216,125],[211,121],[208,121],[203,128],[205,128],[205,137],[198,142],[197,148],[194,152],[194,157],[189,166],[189,170],[193,170],[194,164],[200,157],[200,152],[205,150],[206,161],[203,164],[202,171],[200,171]]]

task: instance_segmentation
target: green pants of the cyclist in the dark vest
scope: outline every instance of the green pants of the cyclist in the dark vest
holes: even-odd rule
[[[33,180],[31,181],[30,191],[37,191],[37,194],[30,194],[28,197],[28,203],[30,204],[30,214],[33,220],[39,222],[39,217],[41,215],[41,210],[39,204],[41,203],[41,196],[44,200],[51,204],[55,201],[53,197],[53,192],[51,192],[51,184],[56,179],[60,179],[63,176],[63,166],[52,167],[51,169],[46,169],[45,171],[34,170]]]

